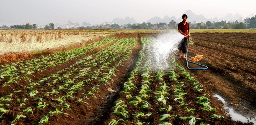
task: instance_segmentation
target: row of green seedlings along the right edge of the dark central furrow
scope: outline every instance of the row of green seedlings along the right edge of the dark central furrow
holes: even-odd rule
[[[143,53],[143,51],[145,50],[145,43],[144,41],[141,41],[141,42],[142,42],[142,49],[138,53],[138,61],[135,63],[133,70],[130,72],[127,78],[127,81],[124,83],[124,88],[123,88],[124,91],[120,92],[120,93],[124,93],[126,95],[126,98],[128,99],[132,98],[131,93],[129,91],[131,89],[136,88],[132,82],[135,81],[135,78],[138,76],[138,72],[141,70],[142,60],[145,57]],[[126,111],[125,108],[127,107],[127,104],[122,104],[124,103],[124,101],[122,101],[121,99],[117,99],[116,102],[117,102],[116,105],[112,107],[112,109],[114,109],[113,113],[121,114],[124,118],[126,118],[128,111]],[[112,119],[109,122],[109,125],[116,125],[118,124],[118,122],[127,122],[127,121],[125,121],[124,119],[118,119],[118,120]]]

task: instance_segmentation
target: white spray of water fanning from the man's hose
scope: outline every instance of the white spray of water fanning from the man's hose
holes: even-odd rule
[[[170,50],[177,48],[178,43],[184,36],[177,30],[169,30],[165,34],[159,35],[155,41],[151,43],[151,70],[166,70],[168,69],[168,56]]]

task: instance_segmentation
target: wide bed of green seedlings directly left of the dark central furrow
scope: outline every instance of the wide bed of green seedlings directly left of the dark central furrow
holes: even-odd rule
[[[100,98],[102,84],[113,82],[115,66],[129,58],[135,43],[135,38],[120,39],[56,74],[30,81],[24,88],[1,97],[2,120],[16,123],[33,119],[33,124],[41,124],[54,119],[56,114],[75,114],[79,109],[74,107],[93,104]],[[19,109],[15,108],[17,104]],[[10,112],[16,112],[15,117]]]

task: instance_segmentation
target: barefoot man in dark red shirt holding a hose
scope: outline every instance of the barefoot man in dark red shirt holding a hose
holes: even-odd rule
[[[180,22],[178,25],[179,32],[184,36],[190,36],[190,28],[189,28],[189,23],[186,22],[187,20],[186,14],[182,15],[182,20],[183,21]],[[186,53],[187,38],[188,37],[184,37],[184,39],[182,39],[181,43],[178,46],[178,49],[180,50],[180,58],[181,58],[181,50],[183,53],[183,58],[186,58],[185,53]]]

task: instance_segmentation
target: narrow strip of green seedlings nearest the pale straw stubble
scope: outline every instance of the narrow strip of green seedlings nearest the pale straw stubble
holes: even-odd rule
[[[88,51],[92,51],[94,47],[102,47],[115,39],[117,38],[104,38],[97,42],[93,42],[85,47],[79,47],[67,51],[60,51],[47,57],[42,56],[40,58],[32,59],[31,61],[19,61],[18,63],[12,63],[11,65],[1,65],[0,78],[9,78],[5,82],[4,86],[10,86],[8,85],[8,83],[18,84],[17,81],[21,80],[21,78],[31,81],[28,76],[32,75],[34,72],[43,71],[45,68],[48,68],[50,66],[57,66],[61,63],[65,63],[69,60],[86,54]],[[22,76],[17,76],[19,74],[22,74]]]

